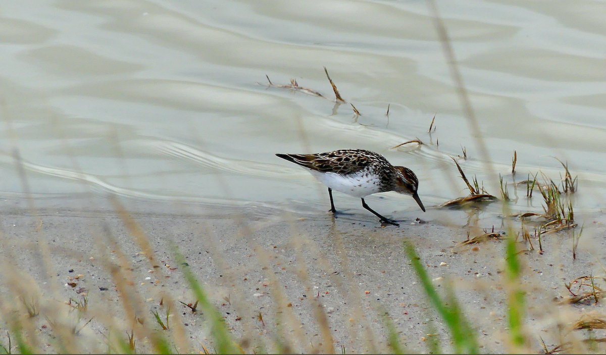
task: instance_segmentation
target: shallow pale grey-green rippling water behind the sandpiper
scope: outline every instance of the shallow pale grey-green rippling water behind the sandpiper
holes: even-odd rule
[[[510,187],[539,170],[559,179],[556,156],[579,175],[576,210],[599,211],[606,4],[438,7],[496,173]],[[466,194],[449,156],[499,194],[424,1],[18,1],[1,9],[0,196],[7,199],[24,196],[15,147],[36,198],[112,192],[159,205],[324,216],[325,188],[274,154],[339,148],[377,151],[414,170],[426,207]],[[322,67],[346,104],[333,101]],[[268,87],[265,75],[275,84],[295,78],[327,98]],[[390,149],[415,138],[425,144]],[[462,147],[466,161],[457,157]],[[541,210],[522,190],[514,210]],[[407,196],[375,196],[368,204],[384,214],[421,216]],[[358,199],[335,199],[355,213],[346,219],[374,221]],[[499,211],[495,205],[488,215]]]

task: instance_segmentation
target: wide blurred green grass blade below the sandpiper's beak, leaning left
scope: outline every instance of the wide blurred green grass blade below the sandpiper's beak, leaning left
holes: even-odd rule
[[[421,264],[421,258],[417,255],[415,249],[410,243],[405,243],[404,247],[408,257],[410,258],[413,270],[415,270],[417,277],[419,277],[419,280],[421,280],[425,294],[436,311],[438,311],[438,314],[442,317],[442,319],[444,319],[444,322],[450,330],[454,351],[456,353],[466,354],[478,353],[478,340],[476,338],[476,334],[470,327],[470,323],[465,319],[458,302],[456,302],[452,288],[447,288],[447,307],[442,301],[435,287],[433,287],[433,284],[431,284],[427,271],[425,271],[425,268]]]

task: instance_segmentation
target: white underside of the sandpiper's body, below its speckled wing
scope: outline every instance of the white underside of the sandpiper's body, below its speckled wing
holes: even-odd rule
[[[371,174],[369,170],[358,171],[358,173],[347,176],[337,173],[321,173],[317,170],[310,170],[310,173],[322,184],[351,196],[363,198],[381,191],[381,179],[375,174]]]

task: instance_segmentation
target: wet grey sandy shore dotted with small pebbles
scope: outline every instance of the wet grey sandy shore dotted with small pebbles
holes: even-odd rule
[[[109,251],[106,259],[115,263],[120,251],[127,257],[138,297],[150,311],[161,309],[162,292],[186,304],[194,302],[180,271],[184,266],[178,265],[171,251],[170,243],[175,242],[235,339],[244,340],[243,348],[249,346],[244,348],[247,352],[253,351],[255,339],[272,344],[281,334],[286,334],[285,341],[295,351],[319,351],[319,343],[327,340],[333,342],[335,351],[341,351],[341,345],[347,352],[387,351],[381,317],[385,313],[408,350],[427,351],[424,339],[430,333],[428,323],[433,324],[448,350],[444,322],[429,307],[402,247],[404,241],[410,241],[439,290],[448,280],[454,282],[456,296],[477,330],[482,351],[507,351],[505,242],[488,241],[474,245],[474,249],[472,245],[453,252],[453,241],[464,241],[467,227],[440,225],[438,221],[419,223],[413,218],[399,228],[381,227],[371,217],[351,222],[357,214],[364,216],[364,211],[352,211],[354,216],[345,219],[328,214],[313,219],[247,217],[245,211],[228,216],[211,210],[161,213],[141,208],[141,204],[139,211],[127,207],[149,239],[155,257],[151,265],[110,206],[101,203],[95,209],[53,204],[38,203],[47,205],[38,210],[38,216],[32,216],[23,201],[5,201],[2,208],[5,260],[12,252],[16,269],[33,276],[43,305],[77,299],[84,293],[89,296],[91,314],[109,310],[125,322],[121,295],[101,262],[103,248]],[[606,250],[601,237],[603,220],[598,216],[585,221],[576,260],[567,233],[545,235],[543,254],[536,251],[536,240],[536,250],[519,254],[533,350],[541,350],[539,335],[548,347],[559,343],[556,320],[561,317],[573,322],[582,310],[601,310],[601,304],[593,302],[574,306],[558,302],[569,294],[565,282],[586,274],[604,274],[600,264],[605,264]],[[110,234],[116,245],[107,237]],[[44,244],[50,250],[48,265],[40,251]],[[521,243],[519,247],[523,250],[528,245]],[[47,266],[50,276],[44,271]],[[82,276],[74,279],[77,275]],[[324,317],[315,313],[318,305],[330,334],[322,334],[318,327],[319,317]],[[171,322],[187,324],[185,333],[195,347],[199,348],[198,340],[212,346],[203,326],[204,316],[192,314],[181,304],[178,310]],[[151,313],[145,316],[154,322]],[[48,322],[43,318],[37,321],[41,333],[50,336]],[[104,326],[93,320],[82,330],[87,331],[98,335]]]

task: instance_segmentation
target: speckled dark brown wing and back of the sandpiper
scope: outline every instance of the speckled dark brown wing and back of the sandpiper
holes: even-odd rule
[[[276,154],[282,159],[322,173],[353,174],[373,164],[391,167],[381,154],[368,150],[344,149],[317,154]]]

